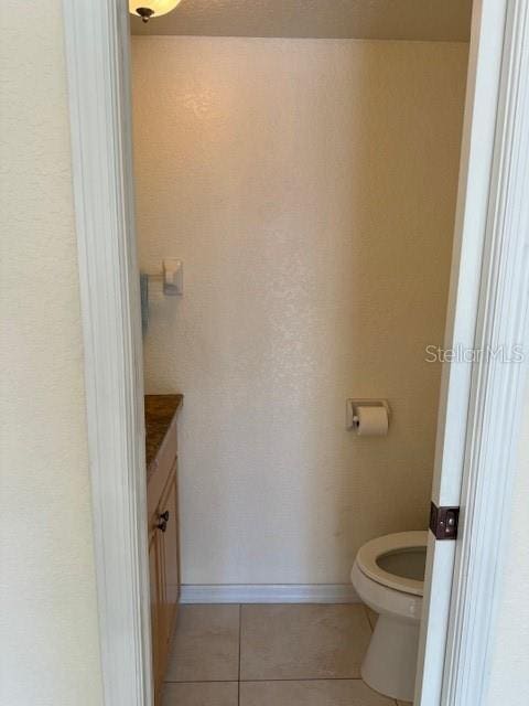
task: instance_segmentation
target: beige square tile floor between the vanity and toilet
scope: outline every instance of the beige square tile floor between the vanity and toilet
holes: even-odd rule
[[[404,706],[360,664],[376,614],[347,606],[181,606],[163,706]]]

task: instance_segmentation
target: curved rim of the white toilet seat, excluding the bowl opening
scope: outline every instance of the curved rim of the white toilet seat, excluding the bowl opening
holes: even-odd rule
[[[368,578],[403,593],[422,596],[424,581],[404,576],[390,574],[379,566],[377,559],[385,554],[406,552],[406,549],[424,548],[428,543],[428,532],[399,532],[371,539],[358,552],[356,564]]]

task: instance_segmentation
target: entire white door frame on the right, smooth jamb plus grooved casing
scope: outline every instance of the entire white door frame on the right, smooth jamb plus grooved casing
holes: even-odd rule
[[[528,17],[526,0],[474,2],[446,349],[528,349]],[[484,703],[525,372],[443,366],[432,501],[461,506],[460,533],[429,533],[421,706]]]

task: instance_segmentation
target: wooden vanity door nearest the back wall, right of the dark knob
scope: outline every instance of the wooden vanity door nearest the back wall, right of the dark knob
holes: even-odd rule
[[[165,524],[160,533],[160,550],[162,564],[163,591],[161,597],[161,642],[162,662],[166,663],[171,638],[176,618],[180,597],[180,560],[179,560],[179,499],[176,461],[168,479],[162,500],[160,502],[160,518]]]

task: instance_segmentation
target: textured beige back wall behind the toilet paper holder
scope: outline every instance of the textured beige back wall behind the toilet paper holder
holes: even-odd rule
[[[467,47],[132,44],[141,263],[185,271],[145,339],[148,392],[185,394],[184,581],[347,582],[427,523]]]

